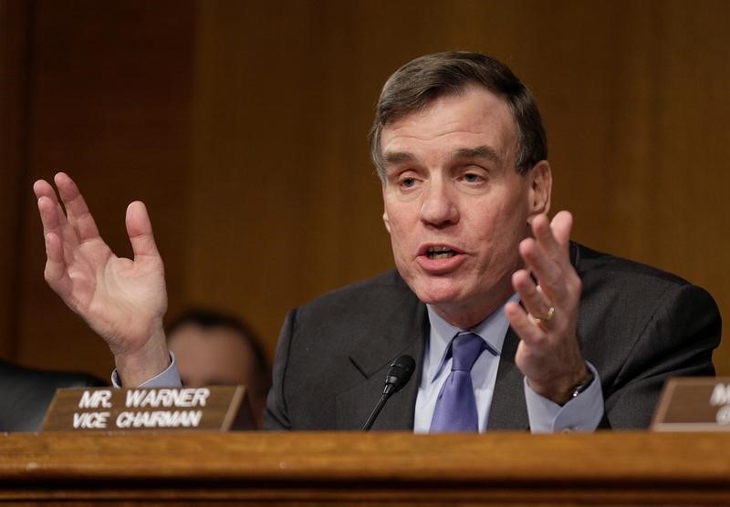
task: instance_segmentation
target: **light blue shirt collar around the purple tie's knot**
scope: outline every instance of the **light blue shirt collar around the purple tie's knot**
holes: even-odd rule
[[[510,301],[518,300],[519,295],[514,294],[506,300],[505,305]],[[448,360],[447,353],[449,351],[449,345],[454,339],[454,336],[459,333],[469,332],[480,336],[483,340],[485,340],[487,350],[496,356],[500,356],[502,354],[502,346],[505,344],[507,327],[509,327],[509,320],[505,314],[505,305],[501,305],[482,322],[469,329],[462,329],[449,324],[436,313],[436,310],[433,309],[432,305],[426,305],[428,319],[431,323],[431,336],[426,344],[426,347],[428,348],[427,354],[429,365],[438,365],[438,367],[429,368],[432,373],[429,381],[433,382],[433,380],[438,377],[443,366]]]

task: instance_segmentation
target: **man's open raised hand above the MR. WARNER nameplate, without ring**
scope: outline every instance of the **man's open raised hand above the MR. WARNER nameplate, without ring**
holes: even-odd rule
[[[170,365],[162,317],[167,309],[164,266],[142,202],[127,208],[134,260],[117,257],[99,236],[76,183],[59,172],[53,187],[33,191],[46,238],[46,281],[106,340],[124,386],[135,387]]]

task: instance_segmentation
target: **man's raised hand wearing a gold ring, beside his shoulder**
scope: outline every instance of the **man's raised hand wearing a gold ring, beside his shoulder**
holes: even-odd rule
[[[552,223],[544,214],[535,217],[534,238],[519,248],[527,269],[512,276],[524,307],[513,302],[505,308],[521,338],[517,367],[530,388],[559,404],[588,375],[576,336],[581,283],[568,252],[572,224],[569,212],[558,212]]]

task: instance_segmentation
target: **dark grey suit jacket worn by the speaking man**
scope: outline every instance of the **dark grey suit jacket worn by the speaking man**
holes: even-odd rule
[[[720,314],[711,295],[681,278],[577,243],[583,284],[578,334],[605,398],[602,427],[646,428],[664,380],[714,375]],[[408,354],[420,373],[425,305],[391,271],[292,310],[279,337],[265,429],[360,429],[387,369]],[[488,429],[527,429],[519,338],[507,331]],[[415,377],[415,376],[414,376]],[[420,375],[419,375],[420,377]],[[395,394],[373,429],[412,429],[420,378]]]

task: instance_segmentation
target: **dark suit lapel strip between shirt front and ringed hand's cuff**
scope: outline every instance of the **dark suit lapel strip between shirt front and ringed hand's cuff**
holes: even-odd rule
[[[496,371],[495,394],[489,409],[487,430],[528,429],[524,376],[515,364],[519,337],[512,327],[507,329],[499,367]]]

